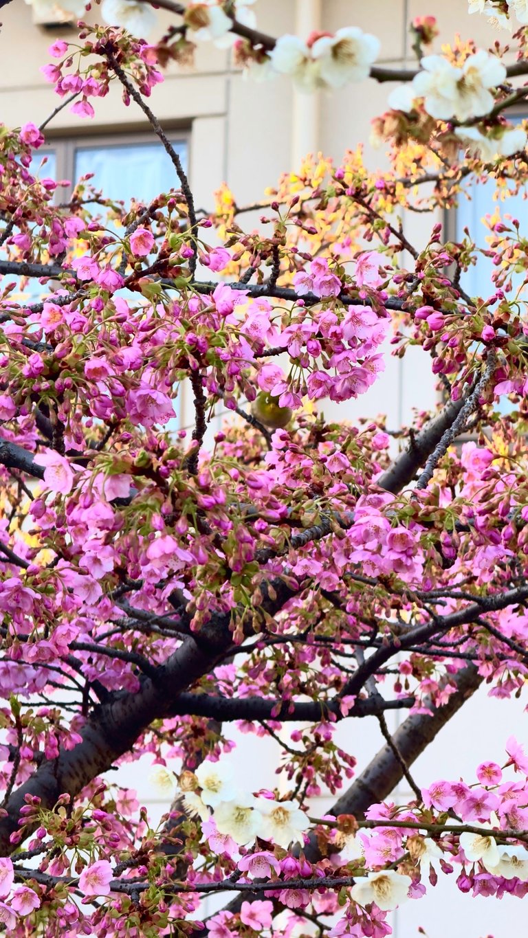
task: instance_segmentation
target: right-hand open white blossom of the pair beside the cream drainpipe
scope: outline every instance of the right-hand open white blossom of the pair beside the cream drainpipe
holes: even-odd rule
[[[357,26],[338,29],[335,36],[322,36],[311,47],[319,64],[319,74],[331,88],[347,82],[362,82],[369,77],[370,66],[380,52],[380,40]]]

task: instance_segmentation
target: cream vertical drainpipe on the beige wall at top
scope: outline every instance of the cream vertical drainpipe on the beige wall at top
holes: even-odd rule
[[[295,0],[295,35],[306,39],[321,29],[321,0]],[[320,92],[306,94],[294,89],[292,114],[292,170],[307,153],[317,153],[319,142]]]

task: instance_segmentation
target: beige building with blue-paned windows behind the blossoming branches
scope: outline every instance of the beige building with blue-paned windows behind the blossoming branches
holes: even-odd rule
[[[380,38],[380,61],[386,65],[415,65],[408,26],[417,15],[437,17],[441,37],[435,51],[457,32],[462,38],[475,38],[477,45],[485,48],[497,38],[485,17],[468,15],[466,0],[259,0],[255,11],[259,28],[276,36],[295,33],[306,38],[315,29],[334,32],[344,25],[360,26]],[[53,87],[45,82],[39,67],[50,61],[47,49],[54,38],[73,37],[74,33],[68,25],[38,23],[37,19],[23,0],[12,0],[1,10],[0,120],[8,126],[18,127],[30,120],[38,124],[57,104]],[[97,19],[98,8],[86,15],[88,22]],[[149,38],[160,37],[173,19],[159,10],[158,27]],[[505,41],[504,34],[501,38]],[[230,52],[207,42],[198,48],[194,68],[169,68],[166,81],[154,89],[150,103],[177,144],[196,204],[209,208],[213,191],[224,181],[233,189],[238,204],[261,200],[264,189],[273,186],[281,173],[294,171],[308,153],[321,151],[339,162],[346,149],[364,142],[368,164],[372,168],[384,165],[384,149],[372,150],[369,144],[370,121],[386,110],[391,87],[370,81],[328,94],[302,95],[294,91],[288,78],[269,83],[246,81],[232,68]],[[46,174],[74,182],[81,174],[95,173],[95,182],[105,194],[120,199],[132,195],[148,199],[173,185],[172,165],[144,123],[143,114],[133,103],[123,107],[117,83],[111,94],[96,99],[95,104],[96,116],[91,121],[68,108],[53,119],[46,132]],[[480,219],[492,210],[492,190],[479,187],[472,194],[473,201],[460,206],[448,223],[451,231],[458,233],[469,225],[477,243],[483,244]],[[526,214],[520,199],[515,200],[515,209],[508,205],[505,210],[520,218]],[[404,213],[405,234],[411,242],[424,243],[437,220],[445,219]],[[478,278],[488,274],[480,265],[468,281],[468,289],[478,292]],[[489,292],[484,288],[484,295]],[[397,429],[411,422],[413,408],[427,409],[436,400],[430,357],[421,350],[411,350],[403,360],[387,357],[385,374],[369,394],[339,406],[325,405],[324,413],[350,420],[383,413],[387,427]],[[185,401],[179,419],[182,425],[191,420]],[[395,729],[398,718],[390,717]],[[501,762],[505,739],[512,733],[528,741],[522,704],[488,701],[484,688],[417,761],[415,779],[423,786],[437,778],[456,779],[461,773],[472,779],[476,765],[483,760]],[[239,742],[230,758],[241,782],[249,789],[274,784],[277,744],[242,736],[234,727],[227,734]],[[343,749],[358,757],[358,771],[384,742],[375,719],[344,721],[338,738]],[[138,773],[135,764],[133,770],[123,770],[120,776],[159,816],[166,801],[152,791],[148,771],[145,764],[144,772]],[[397,796],[410,794],[401,789]],[[331,802],[332,798],[324,798],[317,809],[323,810]],[[429,938],[509,936],[514,915],[519,922],[519,900],[474,900],[460,893],[454,879],[454,875],[441,874],[425,900],[409,901],[400,908],[393,916],[396,938],[412,938],[418,927]]]

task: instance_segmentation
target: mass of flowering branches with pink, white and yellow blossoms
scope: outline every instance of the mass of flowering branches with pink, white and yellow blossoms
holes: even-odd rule
[[[54,113],[0,133],[0,920],[20,936],[382,938],[440,876],[522,898],[515,736],[471,778],[439,765],[422,788],[412,766],[477,688],[517,695],[527,673],[528,249],[507,197],[528,180],[509,117],[528,97],[528,5],[472,0],[509,28],[490,50],[436,53],[434,19],[416,19],[408,70],[376,65],[354,25],[271,37],[248,0],[155,6],[174,16],[159,41],[146,0],[103,0],[104,22],[54,41],[43,71],[54,113],[80,118],[120,85],[172,189],[120,204],[84,177],[65,203],[38,156]],[[200,41],[307,92],[392,83],[373,127],[390,169],[308,158],[256,228],[227,187],[198,210],[148,98]],[[410,243],[399,209],[456,206],[468,176],[505,196],[486,250],[433,221]],[[481,254],[493,273],[468,295]],[[437,412],[416,401],[402,430],[325,421],[324,401],[376,381],[387,340],[430,360]],[[189,435],[173,429],[184,385]],[[395,734],[389,710],[407,714]],[[356,774],[335,731],[369,716],[385,747]],[[232,723],[276,741],[277,789],[241,787]],[[158,826],[109,771],[145,756],[172,800]]]

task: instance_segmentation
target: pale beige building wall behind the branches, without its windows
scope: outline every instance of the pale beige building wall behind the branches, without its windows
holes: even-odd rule
[[[442,40],[473,36],[489,46],[495,38],[492,27],[479,16],[467,14],[466,0],[259,0],[256,12],[259,25],[275,35],[294,32],[296,25],[307,23],[310,16],[329,31],[341,25],[360,25],[382,40],[385,62],[409,64],[407,23],[415,15],[433,13],[442,28]],[[96,10],[97,12],[97,10]],[[159,13],[162,24],[171,22]],[[91,14],[94,18],[95,14]],[[48,61],[46,49],[53,40],[48,32],[34,25],[31,10],[23,0],[13,0],[1,10],[4,23],[0,32],[0,120],[18,126],[27,120],[39,122],[56,106],[53,90],[43,81],[38,67]],[[504,39],[503,39],[504,41]],[[437,41],[437,48],[440,42]],[[279,174],[294,169],[296,159],[306,150],[322,150],[339,159],[344,150],[368,141],[370,120],[386,108],[390,86],[374,82],[352,85],[334,94],[306,98],[294,94],[288,79],[273,83],[250,83],[230,70],[228,53],[207,44],[199,50],[196,68],[171,70],[167,80],[152,96],[152,107],[167,126],[189,127],[190,177],[197,204],[212,204],[211,193],[222,180],[234,189],[240,203],[262,196]],[[70,114],[60,113],[53,121],[53,132],[78,134],[80,130],[98,133],[116,128],[142,127],[141,115],[134,106],[124,109],[118,89],[115,94],[96,102],[96,118],[88,123]],[[370,165],[384,159],[383,152],[366,146]],[[435,219],[408,216],[404,219],[408,237],[427,236]],[[328,416],[354,419],[359,414],[384,412],[390,428],[409,421],[412,408],[426,408],[435,400],[430,379],[429,356],[415,350],[400,362],[388,358],[385,375],[360,401],[325,406]],[[395,721],[392,715],[393,723]],[[415,778],[422,785],[445,775],[456,778],[460,772],[472,773],[485,758],[501,761],[505,738],[516,732],[526,739],[525,717],[520,703],[489,703],[481,692],[444,731],[438,746],[421,757]],[[234,729],[229,731],[236,735]],[[358,755],[359,768],[381,746],[382,739],[373,719],[345,722],[339,728],[344,749]],[[273,741],[255,745],[253,738],[239,738],[240,749],[234,756],[237,770],[249,788],[273,783],[278,749]],[[149,788],[147,772],[137,768],[123,770],[123,779],[138,788],[140,798],[156,807]],[[401,793],[404,796],[405,793]],[[413,938],[422,925],[429,938],[508,938],[511,916],[520,915],[519,900],[472,900],[454,885],[454,877],[441,878],[426,900],[409,902],[396,916],[397,938]]]

